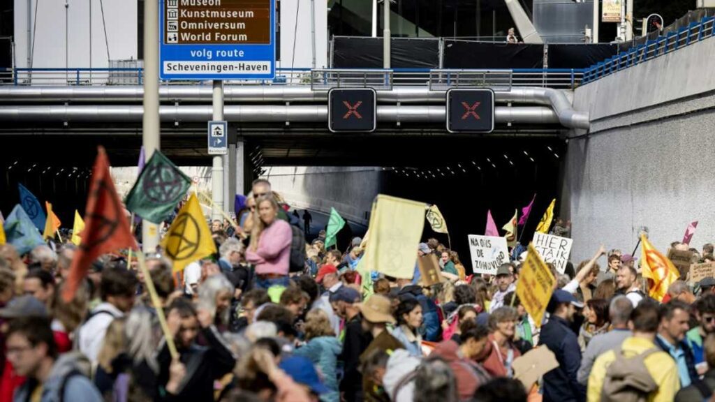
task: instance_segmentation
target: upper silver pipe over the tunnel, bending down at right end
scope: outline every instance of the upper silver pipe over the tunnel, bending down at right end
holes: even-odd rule
[[[225,87],[226,102],[326,102],[327,92],[310,87]],[[0,87],[0,102],[18,101],[132,101],[142,99],[142,87]],[[164,86],[159,94],[166,101],[208,101],[212,88],[204,86]],[[576,112],[566,92],[540,87],[513,87],[511,91],[495,92],[495,101],[514,104],[543,104],[553,108],[565,127],[588,129],[588,112]],[[445,91],[430,91],[426,87],[393,87],[378,90],[378,102],[435,103],[445,102]],[[227,108],[230,106],[227,106]],[[267,105],[257,108],[266,109]],[[192,108],[192,107],[189,107]],[[260,110],[258,110],[260,112]],[[0,114],[0,117],[3,115]],[[278,120],[280,121],[280,120]],[[284,120],[285,121],[285,120]]]

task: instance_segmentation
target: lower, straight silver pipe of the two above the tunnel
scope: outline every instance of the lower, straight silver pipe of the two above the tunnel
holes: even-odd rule
[[[0,106],[2,122],[140,122],[141,105],[117,106]],[[205,122],[212,117],[211,105],[162,106],[162,122]],[[445,107],[378,105],[378,122],[444,122]],[[496,107],[498,123],[558,123],[558,116],[549,107]],[[260,122],[327,122],[327,105],[226,105],[224,118],[237,123]]]

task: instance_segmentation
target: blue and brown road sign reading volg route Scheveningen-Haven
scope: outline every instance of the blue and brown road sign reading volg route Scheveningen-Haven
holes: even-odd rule
[[[159,0],[161,79],[273,79],[275,0]]]

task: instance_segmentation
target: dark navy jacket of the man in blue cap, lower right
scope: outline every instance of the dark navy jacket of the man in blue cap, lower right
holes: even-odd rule
[[[551,315],[541,328],[539,345],[546,345],[558,361],[558,368],[543,376],[543,402],[586,401],[586,387],[578,383],[581,347],[568,322]]]

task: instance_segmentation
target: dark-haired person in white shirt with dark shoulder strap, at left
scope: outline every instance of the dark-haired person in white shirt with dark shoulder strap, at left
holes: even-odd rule
[[[89,313],[78,333],[79,350],[92,364],[97,363],[99,349],[102,348],[109,324],[114,318],[121,318],[124,313],[132,310],[137,294],[137,278],[126,269],[104,269],[99,293],[102,303]]]

